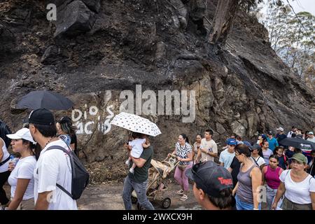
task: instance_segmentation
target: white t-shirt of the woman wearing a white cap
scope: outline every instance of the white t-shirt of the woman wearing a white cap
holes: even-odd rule
[[[29,185],[25,190],[23,200],[29,200],[34,197],[34,169],[36,167],[35,156],[27,156],[18,160],[15,168],[8,177],[8,183],[11,186],[11,197],[15,195],[15,189],[18,185],[18,179],[29,179]]]

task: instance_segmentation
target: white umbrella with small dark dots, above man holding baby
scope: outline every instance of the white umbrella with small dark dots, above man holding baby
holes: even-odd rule
[[[119,113],[113,118],[111,125],[116,125],[132,132],[147,134],[153,137],[161,134],[160,129],[155,123],[132,113]]]

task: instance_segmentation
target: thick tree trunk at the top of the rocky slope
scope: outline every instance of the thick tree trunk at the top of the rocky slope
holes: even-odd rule
[[[214,15],[214,31],[210,34],[209,43],[224,44],[233,24],[239,0],[219,0]]]

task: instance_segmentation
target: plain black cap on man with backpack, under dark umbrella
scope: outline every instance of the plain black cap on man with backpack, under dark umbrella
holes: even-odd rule
[[[29,113],[29,118],[25,120],[25,123],[32,123],[36,125],[52,125],[55,124],[55,118],[48,109],[36,109]]]

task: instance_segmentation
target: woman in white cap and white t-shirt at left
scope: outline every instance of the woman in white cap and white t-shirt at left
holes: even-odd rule
[[[8,210],[34,209],[34,169],[36,158],[33,152],[36,142],[31,137],[28,128],[22,128],[15,134],[7,134],[12,139],[13,152],[20,153],[21,157],[15,162],[8,183],[11,186],[11,200]],[[9,167],[10,169],[10,167]]]

